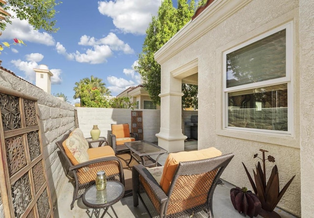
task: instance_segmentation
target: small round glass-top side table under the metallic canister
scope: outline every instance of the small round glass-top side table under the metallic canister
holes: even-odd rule
[[[100,210],[104,208],[104,213],[101,218],[105,216],[108,208],[110,207],[113,211],[116,218],[118,218],[116,212],[113,210],[112,205],[117,203],[124,195],[124,186],[121,182],[118,181],[107,181],[107,185],[105,190],[98,191],[96,189],[96,185],[89,187],[85,193],[83,194],[83,204],[87,207],[92,208],[92,214],[96,216],[96,218],[100,217]],[[87,211],[88,213],[89,211]]]

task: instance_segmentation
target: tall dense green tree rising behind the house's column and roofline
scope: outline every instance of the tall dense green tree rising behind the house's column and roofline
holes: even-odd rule
[[[198,4],[203,3],[203,1],[205,0],[198,1]],[[134,67],[134,70],[141,74],[143,86],[156,105],[160,104],[160,97],[158,96],[160,94],[160,65],[155,61],[154,54],[190,21],[195,13],[195,5],[195,0],[190,0],[189,3],[188,0],[178,0],[178,8],[176,9],[171,0],[164,0],[158,9],[158,15],[153,16],[152,22],[146,30],[146,38],[142,52],[139,54],[138,66]],[[193,87],[192,85],[188,86]],[[183,84],[183,105],[188,105],[190,103],[185,103],[185,100],[192,98],[189,97],[190,94],[185,92],[192,88],[185,89],[185,87]]]

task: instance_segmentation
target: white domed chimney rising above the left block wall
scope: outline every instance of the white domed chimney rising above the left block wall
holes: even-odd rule
[[[47,65],[41,64],[38,69],[33,69],[36,73],[36,86],[51,94],[51,77],[53,74]]]

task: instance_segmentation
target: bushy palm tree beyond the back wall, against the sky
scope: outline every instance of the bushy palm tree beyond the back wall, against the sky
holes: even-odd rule
[[[90,78],[86,77],[79,80],[79,82],[76,82],[75,85],[76,86],[73,88],[75,91],[73,98],[80,98],[81,107],[87,105],[87,107],[91,107],[92,103],[90,101],[97,101],[95,103],[95,105],[98,105],[97,107],[99,107],[102,103],[104,103],[104,105],[101,107],[107,107],[107,101],[104,101],[101,98],[105,99],[104,96],[109,96],[110,91],[105,87],[106,84],[103,82],[103,79],[91,75]],[[87,99],[88,97],[90,97],[90,99]]]

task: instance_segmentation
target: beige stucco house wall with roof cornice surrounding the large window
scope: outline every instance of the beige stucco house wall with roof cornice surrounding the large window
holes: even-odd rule
[[[313,15],[310,16],[308,21],[313,22]],[[294,130],[291,136],[263,135],[250,133],[249,131],[240,132],[223,129],[223,52],[288,22],[292,22],[294,55],[293,63],[291,63],[293,68],[293,90],[291,91],[293,93],[293,102],[291,102],[291,105],[293,107]],[[313,42],[310,45],[313,45]],[[298,100],[300,97],[298,55],[298,0],[215,0],[196,19],[186,24],[168,41],[155,54],[155,58],[161,65],[162,103],[160,116],[171,114],[168,104],[171,102],[172,93],[179,91],[178,89],[174,90],[174,86],[168,82],[168,80],[176,81],[179,76],[171,78],[169,75],[177,72],[178,69],[183,69],[189,63],[197,63],[198,70],[196,73],[198,73],[199,81],[198,149],[215,146],[223,153],[235,153],[235,157],[224,171],[222,178],[236,186],[249,188],[251,185],[241,162],[244,162],[250,172],[253,173],[252,169],[258,162],[258,159],[253,159],[253,155],[256,153],[261,155],[259,151],[261,148],[268,150],[267,155],[274,156],[276,162],[266,163],[267,177],[270,175],[270,170],[274,164],[276,164],[279,169],[280,188],[282,189],[288,180],[296,175],[278,206],[296,216],[301,216],[300,110],[302,105]],[[308,72],[313,72],[311,69],[308,70]],[[309,89],[309,87],[313,87],[313,84],[309,85],[307,83],[307,86],[307,89]],[[311,102],[308,98],[312,99],[312,96],[309,93],[303,102]],[[166,102],[165,107],[163,102]],[[307,104],[304,106],[307,106]],[[307,108],[310,108],[310,105]],[[171,109],[173,110],[173,108]],[[313,109],[311,108],[311,110]],[[307,122],[313,121],[309,117],[304,120],[307,120]],[[171,134],[171,131],[169,132]],[[308,132],[305,134],[308,134]],[[313,133],[310,135],[313,135]],[[309,140],[307,143],[313,145],[313,138],[311,139],[308,136],[306,138]],[[311,163],[313,163],[313,159]]]

